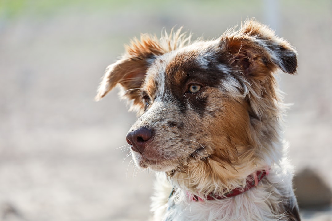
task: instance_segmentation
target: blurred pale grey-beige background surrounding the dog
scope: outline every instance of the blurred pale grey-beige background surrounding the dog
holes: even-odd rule
[[[251,17],[298,50],[285,138],[303,220],[332,220],[330,0],[0,0],[0,220],[147,220],[154,175],[122,147],[135,116],[116,90],[93,99],[105,67],[140,33],[214,38]]]

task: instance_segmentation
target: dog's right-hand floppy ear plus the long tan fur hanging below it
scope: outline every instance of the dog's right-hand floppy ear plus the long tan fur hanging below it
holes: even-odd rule
[[[294,74],[297,55],[294,48],[274,31],[255,20],[247,20],[234,32],[225,32],[219,41],[220,59],[235,69],[241,78],[252,116],[262,119],[279,101],[276,80],[277,69]]]

